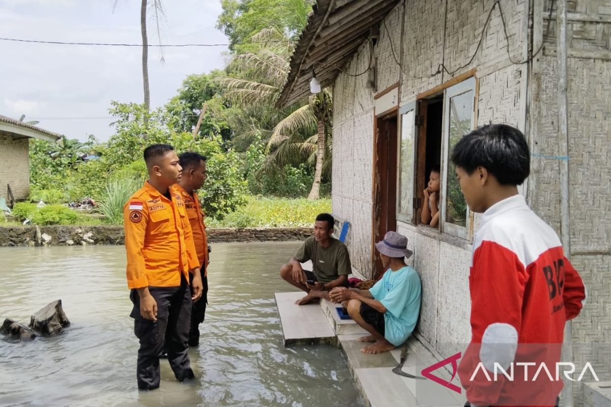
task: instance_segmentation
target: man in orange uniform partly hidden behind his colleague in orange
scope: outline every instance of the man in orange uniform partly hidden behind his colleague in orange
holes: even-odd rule
[[[178,159],[180,160],[180,166],[183,167],[183,173],[180,181],[174,187],[185,201],[203,285],[202,299],[193,303],[191,309],[189,346],[196,347],[199,345],[199,324],[203,322],[206,314],[206,304],[208,303],[208,239],[206,237],[206,225],[203,223],[205,215],[195,192],[202,187],[203,181],[206,181],[206,157],[199,153],[186,152],[180,154]]]

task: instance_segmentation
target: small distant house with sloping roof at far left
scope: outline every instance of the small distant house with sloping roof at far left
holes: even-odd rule
[[[26,198],[30,185],[28,140],[54,143],[60,135],[0,115],[0,197],[7,203]]]

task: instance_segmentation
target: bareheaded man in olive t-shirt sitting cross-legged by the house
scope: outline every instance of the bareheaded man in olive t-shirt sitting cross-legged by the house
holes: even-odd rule
[[[329,290],[334,287],[348,286],[348,275],[352,273],[348,248],[331,236],[335,219],[330,214],[320,214],[314,223],[314,236],[305,240],[288,264],[280,268],[280,276],[298,289],[307,292],[305,297],[296,301],[298,305],[329,299]],[[302,262],[312,261],[312,272],[316,282],[307,283],[301,267]]]

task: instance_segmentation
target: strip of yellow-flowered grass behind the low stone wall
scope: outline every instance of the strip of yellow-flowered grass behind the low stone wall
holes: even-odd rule
[[[311,227],[316,215],[331,212],[331,200],[321,198],[262,198],[249,196],[245,206],[225,215],[222,220],[206,219],[208,228]]]

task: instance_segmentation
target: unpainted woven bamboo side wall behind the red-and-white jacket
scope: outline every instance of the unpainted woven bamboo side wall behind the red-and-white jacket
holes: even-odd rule
[[[549,2],[542,31],[547,31]],[[588,289],[573,323],[574,359],[611,378],[611,1],[568,2],[568,122],[571,262]],[[555,15],[543,57],[533,63],[530,93],[532,175],[529,201],[560,232]],[[588,21],[590,20],[590,21]],[[543,156],[543,157],[542,157]],[[587,344],[587,345],[583,345]],[[596,349],[591,344],[606,344]],[[576,405],[582,392],[576,386]]]

